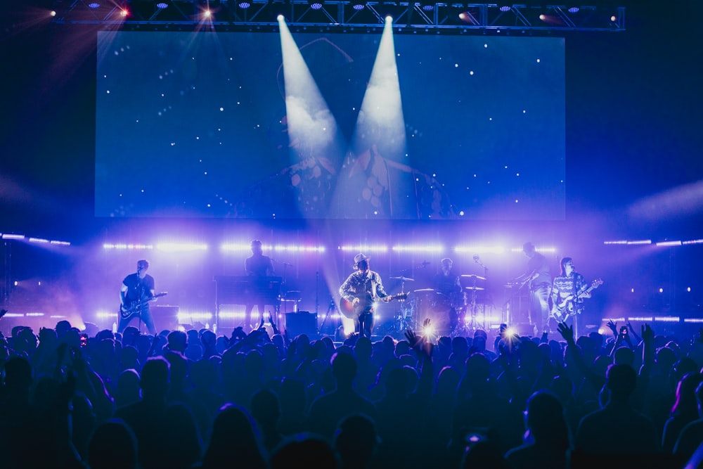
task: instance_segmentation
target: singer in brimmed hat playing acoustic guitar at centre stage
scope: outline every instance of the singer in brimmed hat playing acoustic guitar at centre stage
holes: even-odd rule
[[[354,306],[354,328],[360,337],[371,338],[373,329],[373,302],[388,295],[383,289],[381,276],[368,267],[366,255],[354,256],[356,272],[340,286],[340,295]]]

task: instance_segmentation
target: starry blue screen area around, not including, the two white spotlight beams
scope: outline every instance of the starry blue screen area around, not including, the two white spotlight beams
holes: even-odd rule
[[[351,141],[380,32],[293,38]],[[404,163],[441,187],[441,217],[564,219],[565,39],[394,44]],[[292,164],[282,63],[276,32],[98,33],[96,216],[325,218],[257,207],[252,191]]]

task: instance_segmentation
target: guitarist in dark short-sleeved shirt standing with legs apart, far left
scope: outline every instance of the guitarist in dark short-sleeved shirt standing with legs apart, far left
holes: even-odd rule
[[[119,333],[122,333],[129,321],[138,317],[141,321],[144,321],[150,334],[156,334],[154,319],[149,311],[149,302],[155,297],[154,278],[146,273],[148,269],[148,260],[138,260],[136,262],[136,274],[129,274],[122,281],[122,289],[120,290],[122,307],[125,309],[136,307],[136,314],[131,314],[127,318],[120,314],[120,323],[117,326],[117,332]]]

